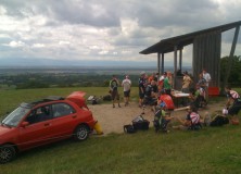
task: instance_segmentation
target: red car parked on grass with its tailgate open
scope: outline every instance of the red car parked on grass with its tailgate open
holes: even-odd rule
[[[0,125],[0,163],[14,159],[17,152],[73,137],[85,140],[96,121],[85,102],[85,92],[66,98],[49,97],[22,103]]]

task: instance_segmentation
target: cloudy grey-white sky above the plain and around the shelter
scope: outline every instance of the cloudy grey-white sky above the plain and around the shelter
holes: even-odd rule
[[[241,21],[240,0],[0,0],[1,65],[156,65],[162,39]],[[221,57],[234,29],[223,33]],[[241,55],[241,32],[236,55]],[[191,65],[192,45],[183,65]],[[173,64],[174,52],[165,54]]]

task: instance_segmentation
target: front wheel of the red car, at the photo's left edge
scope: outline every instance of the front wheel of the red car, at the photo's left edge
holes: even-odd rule
[[[12,145],[0,146],[0,163],[12,161],[16,156],[16,150]]]

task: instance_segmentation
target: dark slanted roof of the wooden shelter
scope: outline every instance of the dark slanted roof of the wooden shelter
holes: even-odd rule
[[[232,28],[240,26],[240,25],[241,25],[241,21],[238,21],[234,23],[229,23],[229,24],[225,24],[225,25],[220,25],[220,26],[216,26],[216,27],[212,27],[212,28],[207,28],[207,29],[203,29],[203,30],[193,32],[193,33],[186,34],[186,35],[180,35],[177,37],[163,39],[160,42],[142,50],[140,53],[141,54],[150,54],[150,53],[156,53],[156,52],[158,52],[158,53],[173,52],[175,49],[175,46],[177,46],[177,50],[180,50],[185,46],[193,44],[194,38],[196,36],[212,33],[212,32],[216,32],[216,30],[219,30],[223,33],[223,32],[232,29]]]

